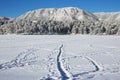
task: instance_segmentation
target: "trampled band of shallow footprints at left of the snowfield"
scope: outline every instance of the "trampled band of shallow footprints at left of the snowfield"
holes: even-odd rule
[[[13,67],[23,67],[25,65],[32,65],[37,62],[37,56],[35,55],[36,49],[28,49],[21,52],[15,57],[15,59],[0,64],[0,69],[10,69]]]

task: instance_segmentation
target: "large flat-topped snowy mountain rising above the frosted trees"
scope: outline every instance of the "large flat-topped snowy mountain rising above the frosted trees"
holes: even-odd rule
[[[18,20],[53,20],[53,21],[98,21],[98,18],[90,12],[74,7],[46,8],[29,11],[17,18]]]

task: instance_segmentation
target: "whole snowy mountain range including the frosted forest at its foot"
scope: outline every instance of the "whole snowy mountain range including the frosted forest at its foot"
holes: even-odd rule
[[[120,35],[120,12],[90,13],[74,8],[29,11],[16,19],[1,17],[0,34]]]

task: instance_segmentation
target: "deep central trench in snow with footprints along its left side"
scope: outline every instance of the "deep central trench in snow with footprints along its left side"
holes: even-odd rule
[[[71,74],[64,68],[61,55],[62,55],[62,48],[63,45],[61,45],[58,49],[58,52],[52,52],[48,56],[48,70],[49,74],[47,78],[41,79],[41,80],[73,80]],[[56,58],[53,58],[53,55],[56,54]],[[56,62],[56,66],[55,66]],[[55,70],[56,67],[57,70]],[[57,71],[59,72],[59,75],[57,74]]]

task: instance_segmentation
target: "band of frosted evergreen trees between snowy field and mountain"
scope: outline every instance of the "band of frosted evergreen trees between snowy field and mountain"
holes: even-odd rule
[[[91,34],[120,35],[120,23],[88,21],[0,21],[0,34],[52,35],[52,34]]]

